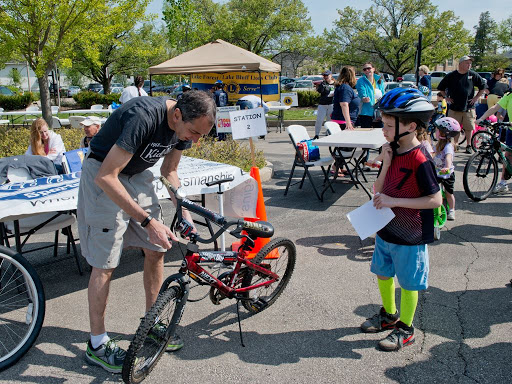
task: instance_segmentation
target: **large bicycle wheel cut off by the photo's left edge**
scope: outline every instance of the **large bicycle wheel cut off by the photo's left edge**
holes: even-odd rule
[[[43,284],[19,253],[0,247],[0,371],[32,347],[45,312]]]

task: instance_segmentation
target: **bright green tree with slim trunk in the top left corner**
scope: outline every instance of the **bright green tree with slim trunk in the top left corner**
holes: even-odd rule
[[[99,33],[105,0],[0,0],[0,52],[23,56],[35,72],[44,119],[51,122],[48,73],[77,42]]]

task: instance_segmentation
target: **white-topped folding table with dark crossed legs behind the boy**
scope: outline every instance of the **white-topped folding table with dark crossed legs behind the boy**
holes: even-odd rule
[[[366,192],[368,197],[371,199],[372,195],[368,191],[368,189],[364,186],[363,183],[359,180],[359,170],[360,164],[363,159],[366,158],[366,154],[370,149],[379,149],[386,143],[386,139],[382,134],[382,129],[380,128],[360,128],[356,130],[347,130],[340,133],[336,133],[334,135],[329,135],[326,137],[322,137],[321,139],[317,139],[313,141],[314,145],[318,145],[319,147],[330,147],[334,148],[332,153],[338,154],[335,156],[335,169],[334,175],[332,178],[329,178],[324,190],[322,191],[322,198],[324,196],[325,191],[331,186],[333,181],[338,178],[338,171],[343,169],[343,166],[346,166],[346,162],[343,156],[341,156],[341,148],[360,148],[362,149],[361,155],[356,159],[356,163],[354,166],[354,175],[356,186],[360,185],[361,188]],[[364,176],[364,174],[363,174]]]

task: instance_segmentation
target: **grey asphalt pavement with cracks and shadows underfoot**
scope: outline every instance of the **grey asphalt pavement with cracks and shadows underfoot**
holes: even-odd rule
[[[311,136],[313,129],[308,127]],[[288,135],[273,130],[256,147],[274,165],[273,178],[263,184],[268,221],[275,236],[297,246],[290,283],[262,313],[242,312],[245,347],[234,302],[188,303],[180,329],[185,347],[163,356],[146,383],[511,382],[512,194],[472,202],[462,187],[469,155],[456,154],[456,221],[447,222],[441,240],[429,246],[430,287],[420,293],[416,342],[381,352],[377,342],[386,333],[359,330],[380,307],[369,271],[373,239],[361,241],[346,218],[368,201],[366,194],[340,181],[320,202],[306,180],[302,190],[292,186],[284,196],[293,159]],[[320,182],[320,171],[313,174]],[[174,211],[168,203],[164,210],[170,222]],[[51,236],[31,242],[49,243]],[[182,250],[176,245],[166,255],[166,275],[177,270]],[[34,264],[52,258],[51,251],[27,256]],[[125,348],[144,314],[142,266],[139,251],[125,251],[111,285],[107,330]],[[87,273],[80,276],[73,259],[36,269],[47,297],[44,328],[27,355],[0,373],[0,382],[120,382],[120,375],[84,360]],[[399,294],[397,285],[397,303]]]

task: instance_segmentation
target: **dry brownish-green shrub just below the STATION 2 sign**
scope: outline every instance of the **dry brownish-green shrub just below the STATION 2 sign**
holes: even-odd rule
[[[231,164],[248,172],[252,167],[251,149],[245,142],[235,141],[231,135],[227,135],[225,141],[218,141],[211,136],[202,137],[192,148],[183,152],[185,156],[196,159],[217,161],[219,163]],[[256,166],[265,166],[263,151],[254,153]]]

